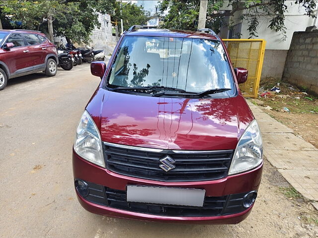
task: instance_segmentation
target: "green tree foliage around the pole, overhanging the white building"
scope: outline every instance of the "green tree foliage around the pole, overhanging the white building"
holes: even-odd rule
[[[285,14],[287,12],[286,0],[229,0],[225,5],[224,0],[209,0],[206,25],[217,33],[220,27],[225,24],[224,17],[234,16],[238,11],[243,10],[241,19],[247,21],[250,37],[257,36],[257,26],[261,17],[269,19],[268,27],[274,31],[281,31],[285,36]],[[315,17],[315,0],[293,0],[294,4],[303,6],[306,15]],[[168,10],[164,17],[162,27],[171,29],[197,29],[199,15],[199,0],[163,0],[159,4],[161,14]],[[232,10],[220,10],[223,6],[232,6]]]

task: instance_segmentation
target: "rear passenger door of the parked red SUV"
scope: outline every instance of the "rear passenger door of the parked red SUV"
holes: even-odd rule
[[[24,33],[23,36],[27,43],[29,56],[31,57],[34,69],[45,67],[45,49],[41,46],[37,35],[32,33]]]

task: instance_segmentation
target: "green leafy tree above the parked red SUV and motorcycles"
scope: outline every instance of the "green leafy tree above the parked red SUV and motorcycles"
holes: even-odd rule
[[[115,0],[7,0],[0,2],[2,17],[22,21],[21,28],[48,33],[47,19],[52,16],[56,36],[77,43],[88,43],[95,27],[100,27],[98,13],[114,14]]]

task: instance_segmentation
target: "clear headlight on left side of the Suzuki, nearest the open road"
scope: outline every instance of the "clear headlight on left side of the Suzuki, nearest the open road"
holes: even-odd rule
[[[100,135],[86,111],[81,116],[76,130],[74,150],[83,159],[105,168]]]

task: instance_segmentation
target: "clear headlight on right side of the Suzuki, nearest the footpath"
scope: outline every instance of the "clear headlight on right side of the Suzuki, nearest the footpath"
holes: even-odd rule
[[[229,175],[239,174],[259,166],[263,161],[263,142],[256,120],[253,120],[239,139]]]

